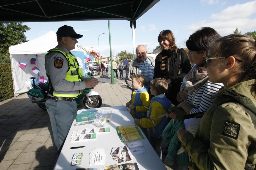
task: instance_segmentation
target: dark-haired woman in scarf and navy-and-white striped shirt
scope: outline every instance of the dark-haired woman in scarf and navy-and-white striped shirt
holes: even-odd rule
[[[209,82],[205,67],[207,51],[216,38],[220,38],[220,35],[213,28],[203,27],[190,35],[186,42],[190,57],[196,65],[183,79],[188,89],[188,98],[187,101],[181,102],[178,107],[182,108],[188,115],[206,112],[212,105],[211,96],[216,94],[223,86],[223,84],[220,83]],[[182,146],[181,142],[178,140],[177,130],[179,127],[184,127],[184,123],[181,120],[177,120],[176,114],[176,112],[166,114],[166,116],[169,116],[172,120],[166,126],[166,129],[164,129],[164,132],[169,129],[168,131],[172,132],[173,136],[170,140],[168,154],[164,163],[166,165],[172,165],[177,158],[178,168],[188,169],[188,154],[184,152],[177,156],[177,151]]]

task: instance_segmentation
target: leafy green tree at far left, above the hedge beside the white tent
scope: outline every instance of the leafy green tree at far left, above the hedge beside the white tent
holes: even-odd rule
[[[10,62],[9,47],[27,42],[24,33],[28,30],[22,23],[0,23],[0,62]]]

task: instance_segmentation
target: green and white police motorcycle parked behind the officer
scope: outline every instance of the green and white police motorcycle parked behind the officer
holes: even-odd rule
[[[86,77],[91,77],[90,72]],[[38,104],[41,109],[46,110],[45,101],[47,99],[48,84],[36,83],[35,77],[31,77],[33,83],[31,83],[31,89],[27,92],[28,97],[32,103]],[[83,92],[75,99],[77,107],[86,107],[87,109],[97,108],[102,105],[102,98],[99,93],[92,91],[93,88],[86,88]]]

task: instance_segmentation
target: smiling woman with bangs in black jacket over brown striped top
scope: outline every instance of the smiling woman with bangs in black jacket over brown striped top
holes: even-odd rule
[[[175,38],[170,30],[161,31],[158,42],[162,51],[155,60],[154,79],[166,79],[169,84],[166,97],[177,106],[180,101],[177,101],[176,96],[180,91],[182,79],[191,70],[190,61],[185,50],[175,45]]]

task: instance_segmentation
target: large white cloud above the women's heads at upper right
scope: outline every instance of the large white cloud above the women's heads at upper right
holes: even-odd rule
[[[210,18],[213,21],[202,20],[190,24],[188,26],[189,33],[195,32],[200,27],[212,27],[222,36],[232,34],[236,26],[242,33],[252,31],[256,27],[256,18],[251,17],[256,13],[255,9],[256,1],[227,7],[221,13],[212,14]]]

